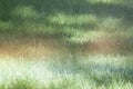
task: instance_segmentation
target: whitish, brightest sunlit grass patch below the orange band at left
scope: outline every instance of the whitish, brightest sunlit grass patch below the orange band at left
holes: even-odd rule
[[[3,58],[2,58],[3,59]],[[48,63],[35,60],[24,61],[23,58],[14,60],[13,58],[4,58],[0,61],[0,82],[10,82],[12,79],[30,79],[40,80],[40,82],[48,83],[53,77],[48,70]],[[40,62],[39,62],[40,61]]]

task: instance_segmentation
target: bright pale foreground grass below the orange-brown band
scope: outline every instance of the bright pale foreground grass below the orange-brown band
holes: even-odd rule
[[[133,60],[125,56],[90,55],[60,60],[4,58],[1,89],[132,89]]]

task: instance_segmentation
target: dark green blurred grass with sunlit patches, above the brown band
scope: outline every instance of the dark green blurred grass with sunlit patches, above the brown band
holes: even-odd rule
[[[129,29],[132,34],[130,3],[131,0],[1,0],[0,32],[71,39],[84,34],[82,31],[103,30],[115,34],[113,31]],[[76,37],[75,32],[82,33]]]

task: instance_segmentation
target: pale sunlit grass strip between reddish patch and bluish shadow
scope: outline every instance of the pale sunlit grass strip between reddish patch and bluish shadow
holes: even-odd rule
[[[95,65],[113,65],[116,67],[122,67],[123,65],[126,65],[125,60],[133,62],[130,57],[125,57],[121,55],[117,56],[90,55],[89,57],[86,57],[86,59],[84,58],[83,60],[81,60],[81,62],[84,63],[90,62]]]

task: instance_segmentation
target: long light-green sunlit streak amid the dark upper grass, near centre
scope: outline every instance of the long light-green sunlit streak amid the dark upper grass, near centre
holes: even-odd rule
[[[94,14],[65,14],[55,13],[54,16],[49,16],[49,20],[53,23],[59,24],[83,24],[83,23],[95,23],[96,17]]]

